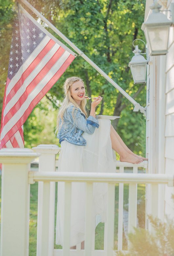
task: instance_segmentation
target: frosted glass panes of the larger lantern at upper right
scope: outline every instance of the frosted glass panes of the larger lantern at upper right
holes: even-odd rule
[[[166,51],[168,41],[168,26],[148,27],[148,38],[152,51]]]

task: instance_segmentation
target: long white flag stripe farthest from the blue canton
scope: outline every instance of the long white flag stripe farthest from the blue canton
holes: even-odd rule
[[[10,131],[10,129],[17,123],[20,117],[25,113],[28,109],[32,100],[39,94],[39,92],[45,87],[45,85],[50,81],[50,78],[54,76],[57,70],[62,66],[62,64],[67,60],[70,56],[70,53],[65,51],[64,54],[57,60],[52,69],[47,73],[47,75],[39,82],[37,87],[28,95],[27,100],[21,105],[20,109],[11,117],[11,119],[6,123],[1,132],[1,140],[5,137],[5,135]]]

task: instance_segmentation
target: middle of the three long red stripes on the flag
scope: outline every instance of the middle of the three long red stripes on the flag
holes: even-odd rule
[[[13,105],[10,111],[5,115],[3,121],[3,127],[10,120],[10,118],[15,115],[15,113],[20,109],[22,104],[28,98],[28,95],[33,91],[33,89],[38,85],[38,83],[45,77],[45,75],[49,72],[49,70],[54,66],[57,60],[63,55],[65,49],[59,47],[59,49],[54,53],[53,57],[45,64],[45,66],[40,70],[36,77],[34,77],[33,81],[28,85],[25,92],[21,95],[19,100]]]

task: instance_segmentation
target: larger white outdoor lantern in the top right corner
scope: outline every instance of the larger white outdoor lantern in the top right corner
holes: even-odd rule
[[[150,6],[152,13],[141,26],[150,55],[164,55],[167,53],[169,27],[172,22],[163,13],[160,13],[161,7],[157,1],[153,3]]]

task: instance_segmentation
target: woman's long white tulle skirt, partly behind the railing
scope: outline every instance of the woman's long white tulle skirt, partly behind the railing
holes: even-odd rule
[[[61,142],[58,171],[61,172],[115,172],[116,154],[110,139],[111,121],[98,119],[99,128],[91,134],[83,133],[86,146]],[[86,184],[72,183],[70,246],[84,241]],[[93,184],[93,218],[96,226],[106,221],[107,184]],[[63,243],[64,182],[57,183],[56,244]]]

